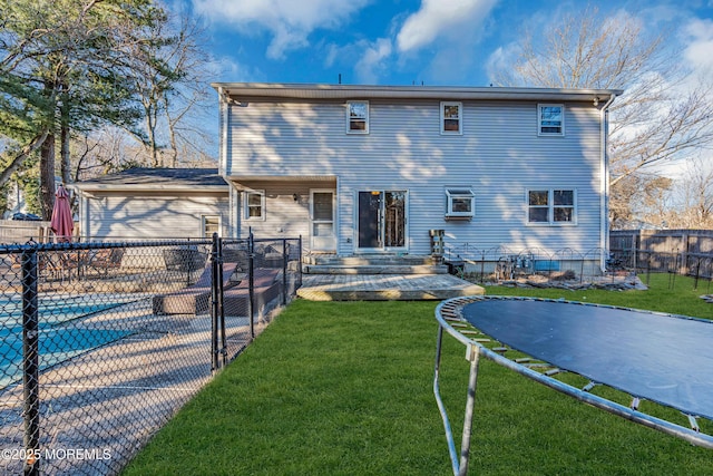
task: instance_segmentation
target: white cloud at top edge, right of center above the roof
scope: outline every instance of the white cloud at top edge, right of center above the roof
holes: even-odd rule
[[[416,51],[437,39],[472,38],[498,0],[422,0],[397,36],[399,51]]]

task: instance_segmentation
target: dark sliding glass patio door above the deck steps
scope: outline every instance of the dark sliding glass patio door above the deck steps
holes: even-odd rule
[[[360,251],[406,247],[406,191],[359,192]]]

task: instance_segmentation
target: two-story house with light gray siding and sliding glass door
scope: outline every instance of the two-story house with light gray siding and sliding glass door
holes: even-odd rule
[[[618,90],[216,82],[229,235],[311,252],[607,246]]]

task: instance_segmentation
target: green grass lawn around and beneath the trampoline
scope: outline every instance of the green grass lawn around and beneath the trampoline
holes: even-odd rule
[[[691,282],[651,291],[489,288],[702,318]],[[295,301],[164,427],[124,475],[448,475],[432,395],[434,302]],[[445,340],[453,433],[468,362]],[[471,474],[710,475],[710,450],[590,408],[482,361]]]

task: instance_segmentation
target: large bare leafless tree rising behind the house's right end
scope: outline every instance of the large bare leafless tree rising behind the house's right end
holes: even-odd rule
[[[623,210],[616,187],[625,187],[627,177],[713,144],[713,89],[682,67],[680,51],[670,45],[665,32],[651,35],[632,16],[619,12],[602,21],[596,8],[587,8],[543,32],[525,33],[515,59],[494,67],[494,79],[508,86],[625,90],[611,108],[609,129],[612,207]]]

